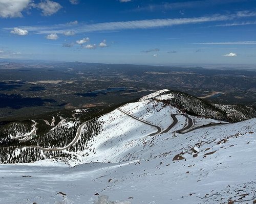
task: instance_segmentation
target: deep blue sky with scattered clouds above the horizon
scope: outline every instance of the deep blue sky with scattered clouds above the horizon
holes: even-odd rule
[[[0,0],[0,58],[256,64],[255,0]]]

